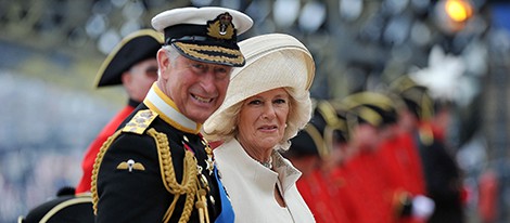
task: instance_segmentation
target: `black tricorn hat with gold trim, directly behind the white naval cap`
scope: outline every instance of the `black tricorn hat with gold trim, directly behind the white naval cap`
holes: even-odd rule
[[[128,35],[104,60],[95,77],[95,86],[120,84],[123,73],[138,62],[155,58],[163,41],[163,35],[153,29],[141,29]]]

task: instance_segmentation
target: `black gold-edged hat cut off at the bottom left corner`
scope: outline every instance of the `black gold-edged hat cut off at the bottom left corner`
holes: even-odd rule
[[[31,209],[17,223],[94,222],[90,195],[63,194]]]

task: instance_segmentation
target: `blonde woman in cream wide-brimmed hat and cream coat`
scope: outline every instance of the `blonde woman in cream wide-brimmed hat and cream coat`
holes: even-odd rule
[[[283,34],[239,45],[246,65],[232,71],[224,104],[203,129],[224,142],[214,155],[235,222],[315,222],[296,188],[301,172],[278,153],[310,119],[311,54]]]

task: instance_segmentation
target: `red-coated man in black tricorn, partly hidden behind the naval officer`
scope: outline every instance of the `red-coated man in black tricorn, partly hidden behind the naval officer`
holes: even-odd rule
[[[162,44],[163,35],[153,29],[135,31],[125,37],[101,65],[95,86],[103,88],[123,84],[129,101],[89,145],[81,162],[84,174],[76,186],[77,194],[90,192],[92,167],[101,145],[142,102],[156,81],[156,53]]]

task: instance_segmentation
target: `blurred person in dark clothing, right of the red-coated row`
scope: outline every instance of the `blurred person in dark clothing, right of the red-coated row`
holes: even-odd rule
[[[435,209],[428,222],[464,222],[462,172],[442,135],[432,124],[437,102],[425,86],[405,75],[392,82],[405,102],[400,126],[413,139],[423,165],[426,195]]]

